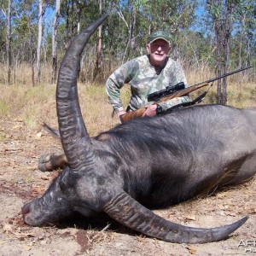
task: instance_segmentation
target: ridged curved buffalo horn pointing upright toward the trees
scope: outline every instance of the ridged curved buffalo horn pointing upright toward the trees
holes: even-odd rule
[[[73,171],[90,166],[96,157],[79,107],[77,78],[85,44],[107,17],[103,15],[74,38],[61,61],[56,89],[57,115],[62,147]]]

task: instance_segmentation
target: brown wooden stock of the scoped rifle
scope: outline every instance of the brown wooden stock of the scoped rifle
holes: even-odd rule
[[[174,92],[172,95],[169,96],[164,96],[162,98],[160,98],[160,100],[156,101],[153,103],[154,104],[158,104],[160,102],[167,102],[172,100],[173,98],[177,98],[177,97],[181,97],[181,96],[185,96],[187,94],[189,94],[189,92],[192,92],[194,90],[198,90],[201,87],[207,86],[209,85],[209,83],[202,83],[202,84],[195,84],[193,86],[189,86],[188,88],[185,88],[183,90],[178,90],[176,92]],[[131,111],[128,113],[125,113],[123,115],[120,116],[120,120],[122,123],[128,122],[131,119],[137,119],[143,116],[143,113],[146,111],[147,108],[139,108],[135,111]]]

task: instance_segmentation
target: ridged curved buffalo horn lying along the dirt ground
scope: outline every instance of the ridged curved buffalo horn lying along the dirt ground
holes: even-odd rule
[[[177,243],[205,243],[224,240],[230,233],[247,221],[247,217],[244,217],[236,223],[218,228],[191,228],[161,218],[143,207],[125,192],[120,193],[112,201],[109,201],[104,211],[111,218],[132,230],[137,230],[147,236]]]

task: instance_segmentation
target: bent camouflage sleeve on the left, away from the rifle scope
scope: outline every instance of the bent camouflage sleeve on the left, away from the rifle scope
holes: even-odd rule
[[[110,104],[115,113],[124,110],[123,103],[120,99],[120,89],[125,83],[129,83],[133,78],[136,61],[128,61],[115,70],[106,82],[106,90]]]

